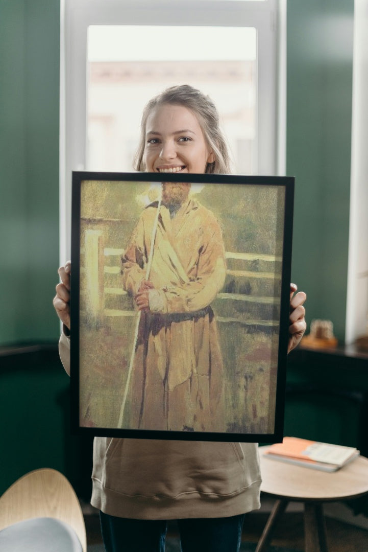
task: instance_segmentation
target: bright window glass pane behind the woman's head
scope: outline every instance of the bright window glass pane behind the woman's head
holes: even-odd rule
[[[175,84],[210,95],[233,171],[255,173],[257,32],[221,26],[89,26],[86,169],[131,171],[144,105]]]

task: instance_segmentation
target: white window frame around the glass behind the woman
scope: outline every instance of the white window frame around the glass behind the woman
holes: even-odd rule
[[[71,253],[71,175],[85,169],[89,25],[257,29],[257,174],[284,174],[286,0],[61,0],[60,262]],[[280,30],[282,33],[280,33]]]

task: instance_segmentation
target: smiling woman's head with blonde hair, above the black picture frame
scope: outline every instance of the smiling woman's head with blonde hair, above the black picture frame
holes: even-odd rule
[[[136,156],[137,171],[230,172],[225,139],[212,99],[188,86],[173,86],[146,105]]]

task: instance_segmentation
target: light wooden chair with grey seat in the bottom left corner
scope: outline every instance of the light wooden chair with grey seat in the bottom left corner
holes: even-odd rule
[[[4,549],[3,540],[7,550],[12,550],[13,543],[14,550],[19,550],[15,548],[19,546],[15,541],[22,534],[24,542],[31,539],[33,546],[24,548],[26,545],[22,543],[24,552],[50,550],[45,547],[50,535],[56,538],[52,550],[86,552],[82,509],[73,487],[59,471],[50,468],[31,471],[0,497],[0,549]],[[37,539],[40,539],[39,545],[35,543]]]

